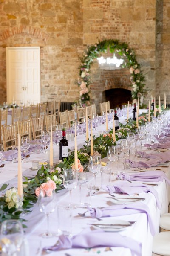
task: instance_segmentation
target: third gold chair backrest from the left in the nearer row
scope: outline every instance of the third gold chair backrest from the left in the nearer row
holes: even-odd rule
[[[43,131],[42,116],[38,118],[31,118],[31,128],[32,128],[33,140],[40,138]]]

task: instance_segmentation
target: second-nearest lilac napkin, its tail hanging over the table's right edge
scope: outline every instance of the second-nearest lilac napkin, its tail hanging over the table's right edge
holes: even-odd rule
[[[88,210],[92,218],[123,216],[123,215],[144,212],[147,215],[147,221],[150,226],[150,233],[153,236],[156,233],[156,228],[150,216],[149,208],[147,207],[146,204],[143,204],[141,202],[135,202],[133,204],[116,204],[116,205],[105,207],[103,209],[88,207]]]

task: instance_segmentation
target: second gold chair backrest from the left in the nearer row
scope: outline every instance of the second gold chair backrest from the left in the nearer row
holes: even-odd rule
[[[29,137],[31,140],[32,135],[31,135],[31,121],[26,120],[22,122],[17,122],[17,127],[18,127],[18,133],[20,134],[21,137]]]

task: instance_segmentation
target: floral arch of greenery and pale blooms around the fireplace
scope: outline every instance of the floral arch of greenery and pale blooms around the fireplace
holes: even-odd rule
[[[136,55],[133,49],[128,47],[125,42],[120,42],[119,40],[106,39],[98,44],[88,46],[82,57],[79,57],[81,61],[81,66],[79,67],[79,79],[78,85],[80,87],[80,99],[79,105],[85,106],[90,105],[90,84],[92,83],[90,77],[90,68],[94,63],[94,60],[99,57],[102,52],[107,52],[110,49],[110,53],[116,52],[120,56],[126,57],[126,61],[123,63],[122,67],[129,68],[130,71],[130,86],[132,86],[132,99],[137,99],[140,95],[142,99],[147,95],[147,89],[145,89],[145,78],[140,69],[140,64],[136,60]]]

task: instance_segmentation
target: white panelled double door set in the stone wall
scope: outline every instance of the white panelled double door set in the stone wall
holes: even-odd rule
[[[6,47],[7,102],[41,102],[40,47]]]

